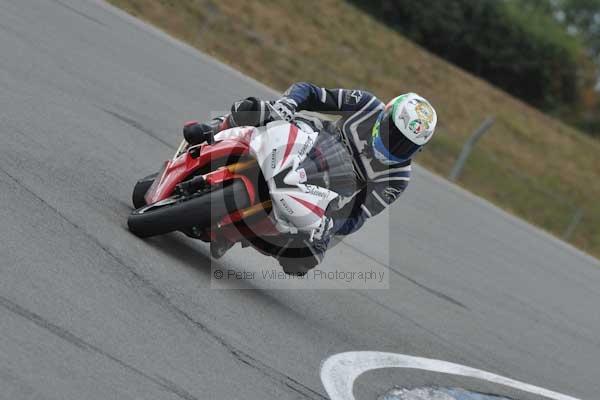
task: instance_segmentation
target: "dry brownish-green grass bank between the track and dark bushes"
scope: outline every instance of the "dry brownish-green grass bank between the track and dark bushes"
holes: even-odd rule
[[[386,100],[414,91],[439,114],[418,162],[447,175],[488,116],[459,184],[600,255],[600,142],[446,63],[341,0],[109,0],[244,73],[284,90],[295,81],[368,89]],[[250,95],[250,94],[249,94]],[[232,99],[233,101],[234,99]]]

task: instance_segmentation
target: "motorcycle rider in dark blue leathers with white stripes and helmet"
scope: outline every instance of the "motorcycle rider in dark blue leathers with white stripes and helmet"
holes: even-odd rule
[[[363,90],[326,89],[299,82],[278,100],[265,102],[249,97],[234,103],[230,114],[209,123],[187,123],[183,134],[190,144],[211,142],[221,130],[262,126],[274,119],[292,122],[296,112],[303,110],[340,117],[336,129],[352,155],[357,178],[364,183],[355,200],[346,206],[346,212],[338,213],[343,217],[325,219],[312,242],[304,241],[312,246],[314,256],[310,261],[302,261],[306,271],[321,261],[334,235],[357,231],[365,220],[381,213],[406,189],[411,159],[431,140],[437,115],[431,104],[415,93],[403,94],[384,104]],[[321,122],[321,127],[326,123],[315,122]],[[211,242],[211,253],[222,255],[231,245],[218,240]],[[280,263],[285,270],[281,259]],[[292,264],[298,266],[293,261]]]

